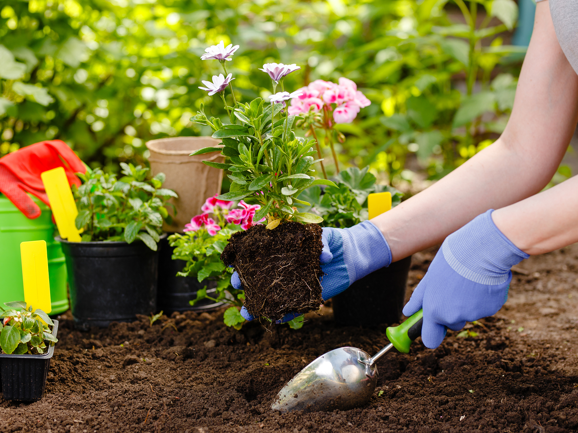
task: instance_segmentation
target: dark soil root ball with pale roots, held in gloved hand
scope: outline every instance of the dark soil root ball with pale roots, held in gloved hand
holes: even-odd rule
[[[323,303],[321,249],[317,224],[285,222],[273,230],[259,224],[234,233],[221,260],[239,273],[247,310],[279,320],[290,312],[317,311]]]

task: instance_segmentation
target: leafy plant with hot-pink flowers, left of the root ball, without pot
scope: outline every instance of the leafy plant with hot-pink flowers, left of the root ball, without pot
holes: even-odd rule
[[[243,290],[231,286],[232,270],[225,267],[220,256],[232,233],[247,230],[258,223],[254,221],[254,216],[260,206],[247,204],[243,200],[239,201],[237,208],[234,208],[234,204],[234,201],[223,201],[217,196],[209,197],[201,207],[203,213],[193,216],[191,222],[185,225],[185,234],[172,234],[169,243],[171,247],[176,247],[172,258],[186,262],[177,275],[197,277],[199,282],[208,280],[217,283],[216,297],[209,296],[205,286],[197,291],[197,298],[191,301],[191,305],[203,299],[232,304],[225,311],[224,321],[227,326],[240,329],[244,319],[236,307],[243,304]]]

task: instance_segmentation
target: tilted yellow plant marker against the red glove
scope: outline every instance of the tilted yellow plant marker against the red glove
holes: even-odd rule
[[[63,167],[40,174],[44,189],[50,201],[50,208],[58,226],[60,237],[69,242],[80,242],[80,234],[75,225],[78,215],[71,187]]]

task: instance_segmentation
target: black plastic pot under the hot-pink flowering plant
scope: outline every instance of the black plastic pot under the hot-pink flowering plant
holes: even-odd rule
[[[209,299],[199,301],[194,307],[189,301],[197,299],[197,290],[207,286],[207,294],[210,297],[217,296],[214,281],[198,282],[195,277],[177,277],[177,272],[183,270],[184,260],[172,260],[173,247],[169,245],[168,238],[159,242],[158,257],[158,294],[157,306],[165,313],[173,311],[201,310],[209,311],[221,307],[223,302],[214,303]]]

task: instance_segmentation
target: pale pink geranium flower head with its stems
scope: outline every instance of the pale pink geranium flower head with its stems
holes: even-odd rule
[[[297,126],[305,129],[306,136],[313,135],[317,145],[317,154],[321,158],[321,149],[315,132],[316,128],[324,129],[325,144],[331,147],[335,160],[335,170],[339,173],[339,162],[335,153],[335,136],[340,143],[345,141],[345,136],[335,130],[335,124],[349,124],[353,122],[357,113],[371,104],[361,91],[357,90],[357,84],[353,81],[340,77],[338,84],[331,81],[315,80],[306,87],[302,87],[301,95],[291,100],[288,108],[289,114],[302,114],[303,119],[297,122]],[[323,176],[327,178],[325,167],[321,162]]]

